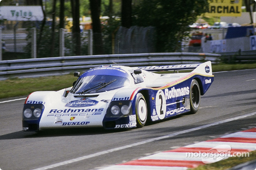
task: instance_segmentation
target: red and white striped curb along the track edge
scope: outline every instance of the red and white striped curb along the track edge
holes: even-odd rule
[[[100,170],[185,170],[256,150],[256,127]]]

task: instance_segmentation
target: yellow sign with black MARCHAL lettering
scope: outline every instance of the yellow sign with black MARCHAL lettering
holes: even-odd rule
[[[207,16],[241,17],[242,0],[209,0]]]

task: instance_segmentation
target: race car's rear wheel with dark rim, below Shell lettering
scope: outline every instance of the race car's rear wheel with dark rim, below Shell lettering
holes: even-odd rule
[[[198,82],[194,79],[190,85],[190,113],[195,114],[199,109],[200,100],[201,100],[201,91]]]

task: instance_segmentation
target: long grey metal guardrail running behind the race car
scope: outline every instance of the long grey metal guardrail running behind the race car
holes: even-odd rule
[[[182,63],[218,63],[220,55],[209,53],[144,53],[85,55],[0,61],[0,80],[68,74],[101,65],[170,65]]]

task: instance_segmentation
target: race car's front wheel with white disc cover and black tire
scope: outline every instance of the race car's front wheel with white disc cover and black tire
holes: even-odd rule
[[[147,103],[144,96],[141,93],[137,94],[135,102],[137,128],[142,128],[147,122]]]

